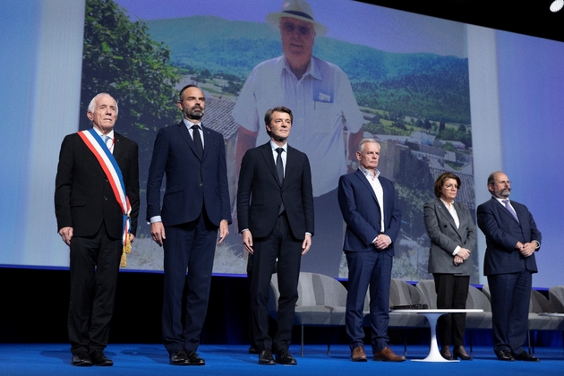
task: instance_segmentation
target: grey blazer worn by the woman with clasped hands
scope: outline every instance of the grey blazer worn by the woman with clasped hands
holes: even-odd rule
[[[455,209],[460,222],[456,226],[454,218],[450,215],[440,199],[425,203],[423,207],[423,218],[427,234],[431,238],[431,249],[429,251],[429,273],[451,273],[460,276],[469,276],[472,273],[472,259],[464,261],[460,265],[453,263],[452,252],[459,245],[470,251],[474,250],[476,244],[476,226],[470,216],[466,205],[455,201]]]

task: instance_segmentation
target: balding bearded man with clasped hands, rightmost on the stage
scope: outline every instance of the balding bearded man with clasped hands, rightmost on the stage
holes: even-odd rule
[[[483,274],[491,292],[493,349],[502,361],[539,362],[523,348],[533,273],[541,232],[526,206],[509,201],[511,184],[500,171],[488,177],[491,200],[478,207],[478,226],[486,236]]]

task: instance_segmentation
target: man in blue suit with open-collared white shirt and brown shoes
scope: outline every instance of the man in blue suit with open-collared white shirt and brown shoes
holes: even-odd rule
[[[395,355],[388,346],[389,285],[394,242],[401,222],[396,189],[378,171],[378,142],[360,141],[356,158],[359,169],[342,175],[338,182],[338,204],[346,222],[343,245],[348,264],[346,334],[350,338],[353,362],[366,362],[363,306],[370,286],[373,359],[403,362],[406,358]]]

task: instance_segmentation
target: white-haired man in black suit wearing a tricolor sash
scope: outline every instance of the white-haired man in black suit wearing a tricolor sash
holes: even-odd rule
[[[137,229],[138,148],[114,132],[117,103],[110,95],[94,97],[87,116],[93,128],[69,134],[61,145],[55,212],[59,235],[71,250],[68,331],[72,364],[113,365],[103,350],[114,312],[120,259]],[[96,152],[113,167],[102,167]],[[104,168],[113,168],[122,181],[113,180]],[[113,184],[123,193],[121,197],[115,195]],[[128,215],[130,221],[124,221]]]

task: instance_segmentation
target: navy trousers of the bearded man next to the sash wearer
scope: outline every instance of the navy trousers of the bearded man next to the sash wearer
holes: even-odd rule
[[[218,227],[202,210],[192,222],[165,227],[165,235],[163,344],[171,354],[196,351],[208,311]]]

